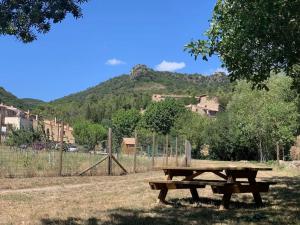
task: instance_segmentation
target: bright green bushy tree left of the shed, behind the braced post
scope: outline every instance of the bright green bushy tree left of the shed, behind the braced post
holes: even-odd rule
[[[100,141],[107,137],[107,130],[101,124],[89,121],[78,121],[73,126],[76,143],[86,145],[93,150]]]

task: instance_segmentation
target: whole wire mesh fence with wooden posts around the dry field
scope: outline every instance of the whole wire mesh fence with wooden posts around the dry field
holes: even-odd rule
[[[111,175],[124,173],[117,162],[128,173],[184,164],[186,140],[183,137],[136,133],[131,139],[134,140],[133,145],[118,143],[117,148],[112,148],[112,155],[116,161],[112,161]],[[107,149],[61,153],[55,149],[24,150],[0,146],[0,177],[106,175],[109,173],[108,162],[105,159],[107,155]]]

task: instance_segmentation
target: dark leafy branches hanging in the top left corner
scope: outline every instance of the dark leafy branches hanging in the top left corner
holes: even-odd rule
[[[13,35],[24,43],[37,33],[47,33],[51,23],[61,22],[68,13],[82,16],[80,4],[87,0],[1,0],[0,35]]]

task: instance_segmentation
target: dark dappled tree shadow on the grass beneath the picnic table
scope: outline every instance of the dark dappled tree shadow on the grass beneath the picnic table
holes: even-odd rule
[[[156,206],[148,210],[118,208],[103,211],[89,219],[42,219],[42,225],[189,225],[189,224],[300,224],[300,177],[273,177],[278,185],[263,195],[265,206],[244,203],[241,196],[231,202],[230,210],[220,211],[220,200],[201,198],[172,199],[172,206]]]

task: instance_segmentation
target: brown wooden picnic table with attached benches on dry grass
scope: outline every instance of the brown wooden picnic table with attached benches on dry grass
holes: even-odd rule
[[[275,182],[256,181],[257,172],[272,170],[269,167],[236,167],[236,166],[209,166],[209,167],[162,167],[167,180],[152,180],[151,189],[160,190],[158,200],[166,202],[168,190],[189,189],[193,200],[199,201],[198,188],[211,186],[213,193],[222,194],[221,208],[228,208],[230,198],[234,193],[252,193],[257,206],[262,206],[261,192],[268,192],[269,186]],[[196,179],[203,173],[213,173],[218,180]],[[173,177],[184,177],[182,180],[173,180]],[[241,180],[243,179],[243,180]]]

